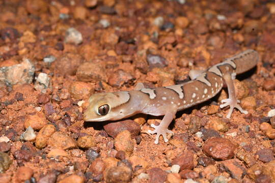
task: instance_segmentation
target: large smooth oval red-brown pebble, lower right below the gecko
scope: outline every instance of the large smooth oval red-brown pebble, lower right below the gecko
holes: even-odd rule
[[[203,146],[204,153],[217,160],[228,160],[234,156],[235,145],[226,138],[208,139]]]

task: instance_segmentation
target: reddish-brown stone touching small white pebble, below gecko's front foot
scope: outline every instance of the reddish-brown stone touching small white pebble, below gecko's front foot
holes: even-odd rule
[[[172,165],[179,165],[181,170],[184,169],[193,169],[196,167],[197,162],[194,159],[194,153],[190,150],[185,150],[183,154],[175,158],[172,163]]]

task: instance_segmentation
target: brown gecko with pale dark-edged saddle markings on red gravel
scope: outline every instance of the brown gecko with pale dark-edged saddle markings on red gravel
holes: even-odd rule
[[[226,58],[222,63],[216,64],[207,70],[191,70],[190,81],[177,85],[146,88],[143,83],[137,83],[130,91],[93,94],[89,99],[89,106],[84,112],[85,121],[119,120],[137,113],[154,116],[164,115],[158,126],[151,124],[156,133],[154,143],[158,143],[160,135],[164,142],[168,142],[167,134],[173,132],[168,126],[175,118],[177,111],[202,103],[214,97],[227,86],[228,99],[222,100],[221,108],[230,106],[226,115],[230,118],[233,109],[248,114],[238,104],[233,79],[237,74],[244,73],[257,65],[259,54],[248,49],[232,57]]]

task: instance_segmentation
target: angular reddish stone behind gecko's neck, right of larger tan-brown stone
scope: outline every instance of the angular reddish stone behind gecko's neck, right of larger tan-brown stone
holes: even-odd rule
[[[124,70],[115,71],[108,78],[108,84],[113,87],[121,87],[125,83],[129,83],[133,81],[135,78],[130,73],[124,72]]]

